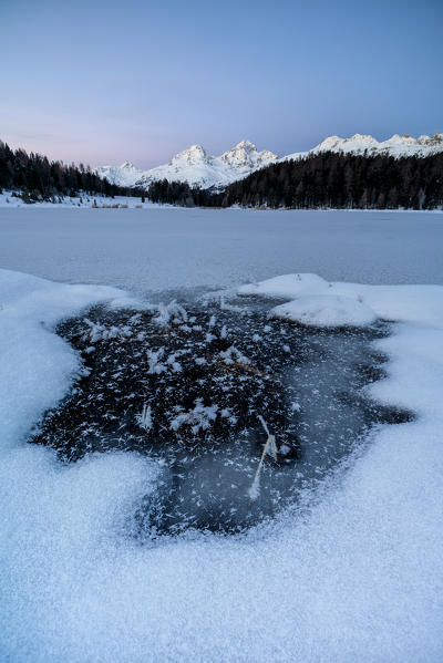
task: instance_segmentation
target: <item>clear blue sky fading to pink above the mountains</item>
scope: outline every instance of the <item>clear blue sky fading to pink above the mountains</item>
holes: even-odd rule
[[[0,0],[0,139],[92,166],[443,132],[442,0]]]

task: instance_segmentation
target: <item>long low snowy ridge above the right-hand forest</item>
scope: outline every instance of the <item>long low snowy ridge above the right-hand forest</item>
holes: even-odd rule
[[[389,156],[430,156],[443,152],[443,134],[433,136],[420,136],[414,138],[408,134],[400,136],[395,134],[388,141],[379,143],[373,136],[354,134],[350,138],[329,136],[309,152],[296,152],[282,157],[280,160],[299,159],[319,152],[339,152],[343,154],[384,154]]]

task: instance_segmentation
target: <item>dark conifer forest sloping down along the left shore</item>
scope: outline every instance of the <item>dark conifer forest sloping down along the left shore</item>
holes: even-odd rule
[[[40,154],[11,149],[0,141],[0,193],[18,191],[27,203],[53,200],[63,196],[144,196],[142,189],[120,187],[102,179],[90,166],[51,162]]]

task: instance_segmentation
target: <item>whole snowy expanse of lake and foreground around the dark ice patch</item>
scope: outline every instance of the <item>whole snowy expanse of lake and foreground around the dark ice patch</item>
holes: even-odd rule
[[[440,661],[443,287],[357,281],[442,283],[442,217],[96,214],[0,213],[1,266],[96,283],[0,271],[0,660]],[[257,283],[282,273],[291,276]],[[360,305],[368,321],[399,320],[377,341],[390,363],[370,394],[418,417],[375,429],[302,515],[241,538],[141,546],[127,519],[155,490],[153,462],[109,454],[62,465],[24,442],[81,370],[54,324],[121,300],[116,283],[141,294],[246,281],[258,296],[298,301],[297,315],[305,303],[311,322],[337,310],[344,323]]]

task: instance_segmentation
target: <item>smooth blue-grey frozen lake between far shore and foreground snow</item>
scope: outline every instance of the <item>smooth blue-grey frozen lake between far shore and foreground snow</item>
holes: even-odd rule
[[[295,271],[443,282],[443,214],[2,208],[0,237],[2,268],[137,293]]]

